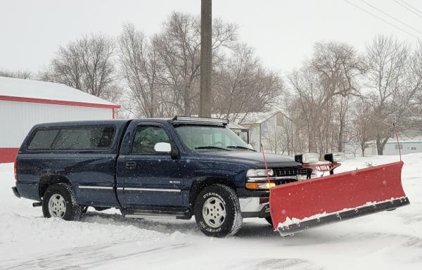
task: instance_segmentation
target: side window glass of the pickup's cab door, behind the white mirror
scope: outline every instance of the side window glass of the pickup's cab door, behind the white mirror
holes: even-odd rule
[[[155,143],[170,143],[170,138],[162,127],[139,126],[136,129],[132,153],[151,155],[155,154]]]

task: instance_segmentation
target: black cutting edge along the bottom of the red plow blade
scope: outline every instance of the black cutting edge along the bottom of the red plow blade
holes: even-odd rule
[[[297,233],[298,231],[304,231],[306,229],[311,229],[318,226],[324,226],[335,222],[345,221],[347,219],[354,219],[357,217],[365,216],[366,214],[373,214],[386,210],[394,210],[397,207],[402,207],[409,204],[410,202],[407,197],[398,198],[383,203],[376,203],[374,205],[358,207],[352,210],[345,210],[343,212],[338,212],[335,214],[328,214],[324,217],[317,217],[315,219],[300,221],[286,226],[279,226],[277,228],[277,231],[279,231],[281,236],[290,236],[291,234]]]

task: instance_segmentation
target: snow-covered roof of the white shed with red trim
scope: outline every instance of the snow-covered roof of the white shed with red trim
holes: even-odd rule
[[[2,99],[1,96],[64,101],[67,103],[90,103],[106,105],[110,108],[120,108],[120,105],[105,101],[102,98],[98,98],[98,96],[87,94],[65,84],[41,82],[32,79],[0,77],[0,99]]]

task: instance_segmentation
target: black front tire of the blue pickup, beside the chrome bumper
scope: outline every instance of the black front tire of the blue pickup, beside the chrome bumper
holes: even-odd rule
[[[217,222],[221,222],[221,224],[216,224],[215,222],[212,224],[212,220],[206,221],[204,218],[204,205],[212,203],[213,200],[214,202],[218,201],[219,205],[221,204],[220,209],[222,209],[225,213],[224,218],[215,216],[217,218],[212,219],[218,220]],[[241,229],[242,215],[239,200],[234,190],[228,186],[215,184],[205,187],[198,194],[198,198],[196,198],[194,213],[198,228],[206,236],[233,236],[239,229]],[[208,213],[211,213],[210,210],[208,210]],[[208,215],[208,217],[210,217],[210,215]],[[213,226],[210,226],[210,224]]]

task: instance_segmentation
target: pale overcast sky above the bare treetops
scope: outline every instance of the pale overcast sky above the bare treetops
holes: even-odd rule
[[[298,68],[316,41],[345,41],[364,49],[375,34],[413,44],[422,37],[422,13],[397,4],[403,0],[365,1],[416,30],[362,0],[347,1],[409,33],[346,0],[213,0],[212,15],[237,23],[241,41],[255,48],[265,66],[283,73]],[[404,1],[422,11],[422,1]],[[117,36],[128,22],[153,34],[172,11],[199,14],[200,0],[1,0],[0,69],[37,72],[49,64],[59,44],[91,32]]]

